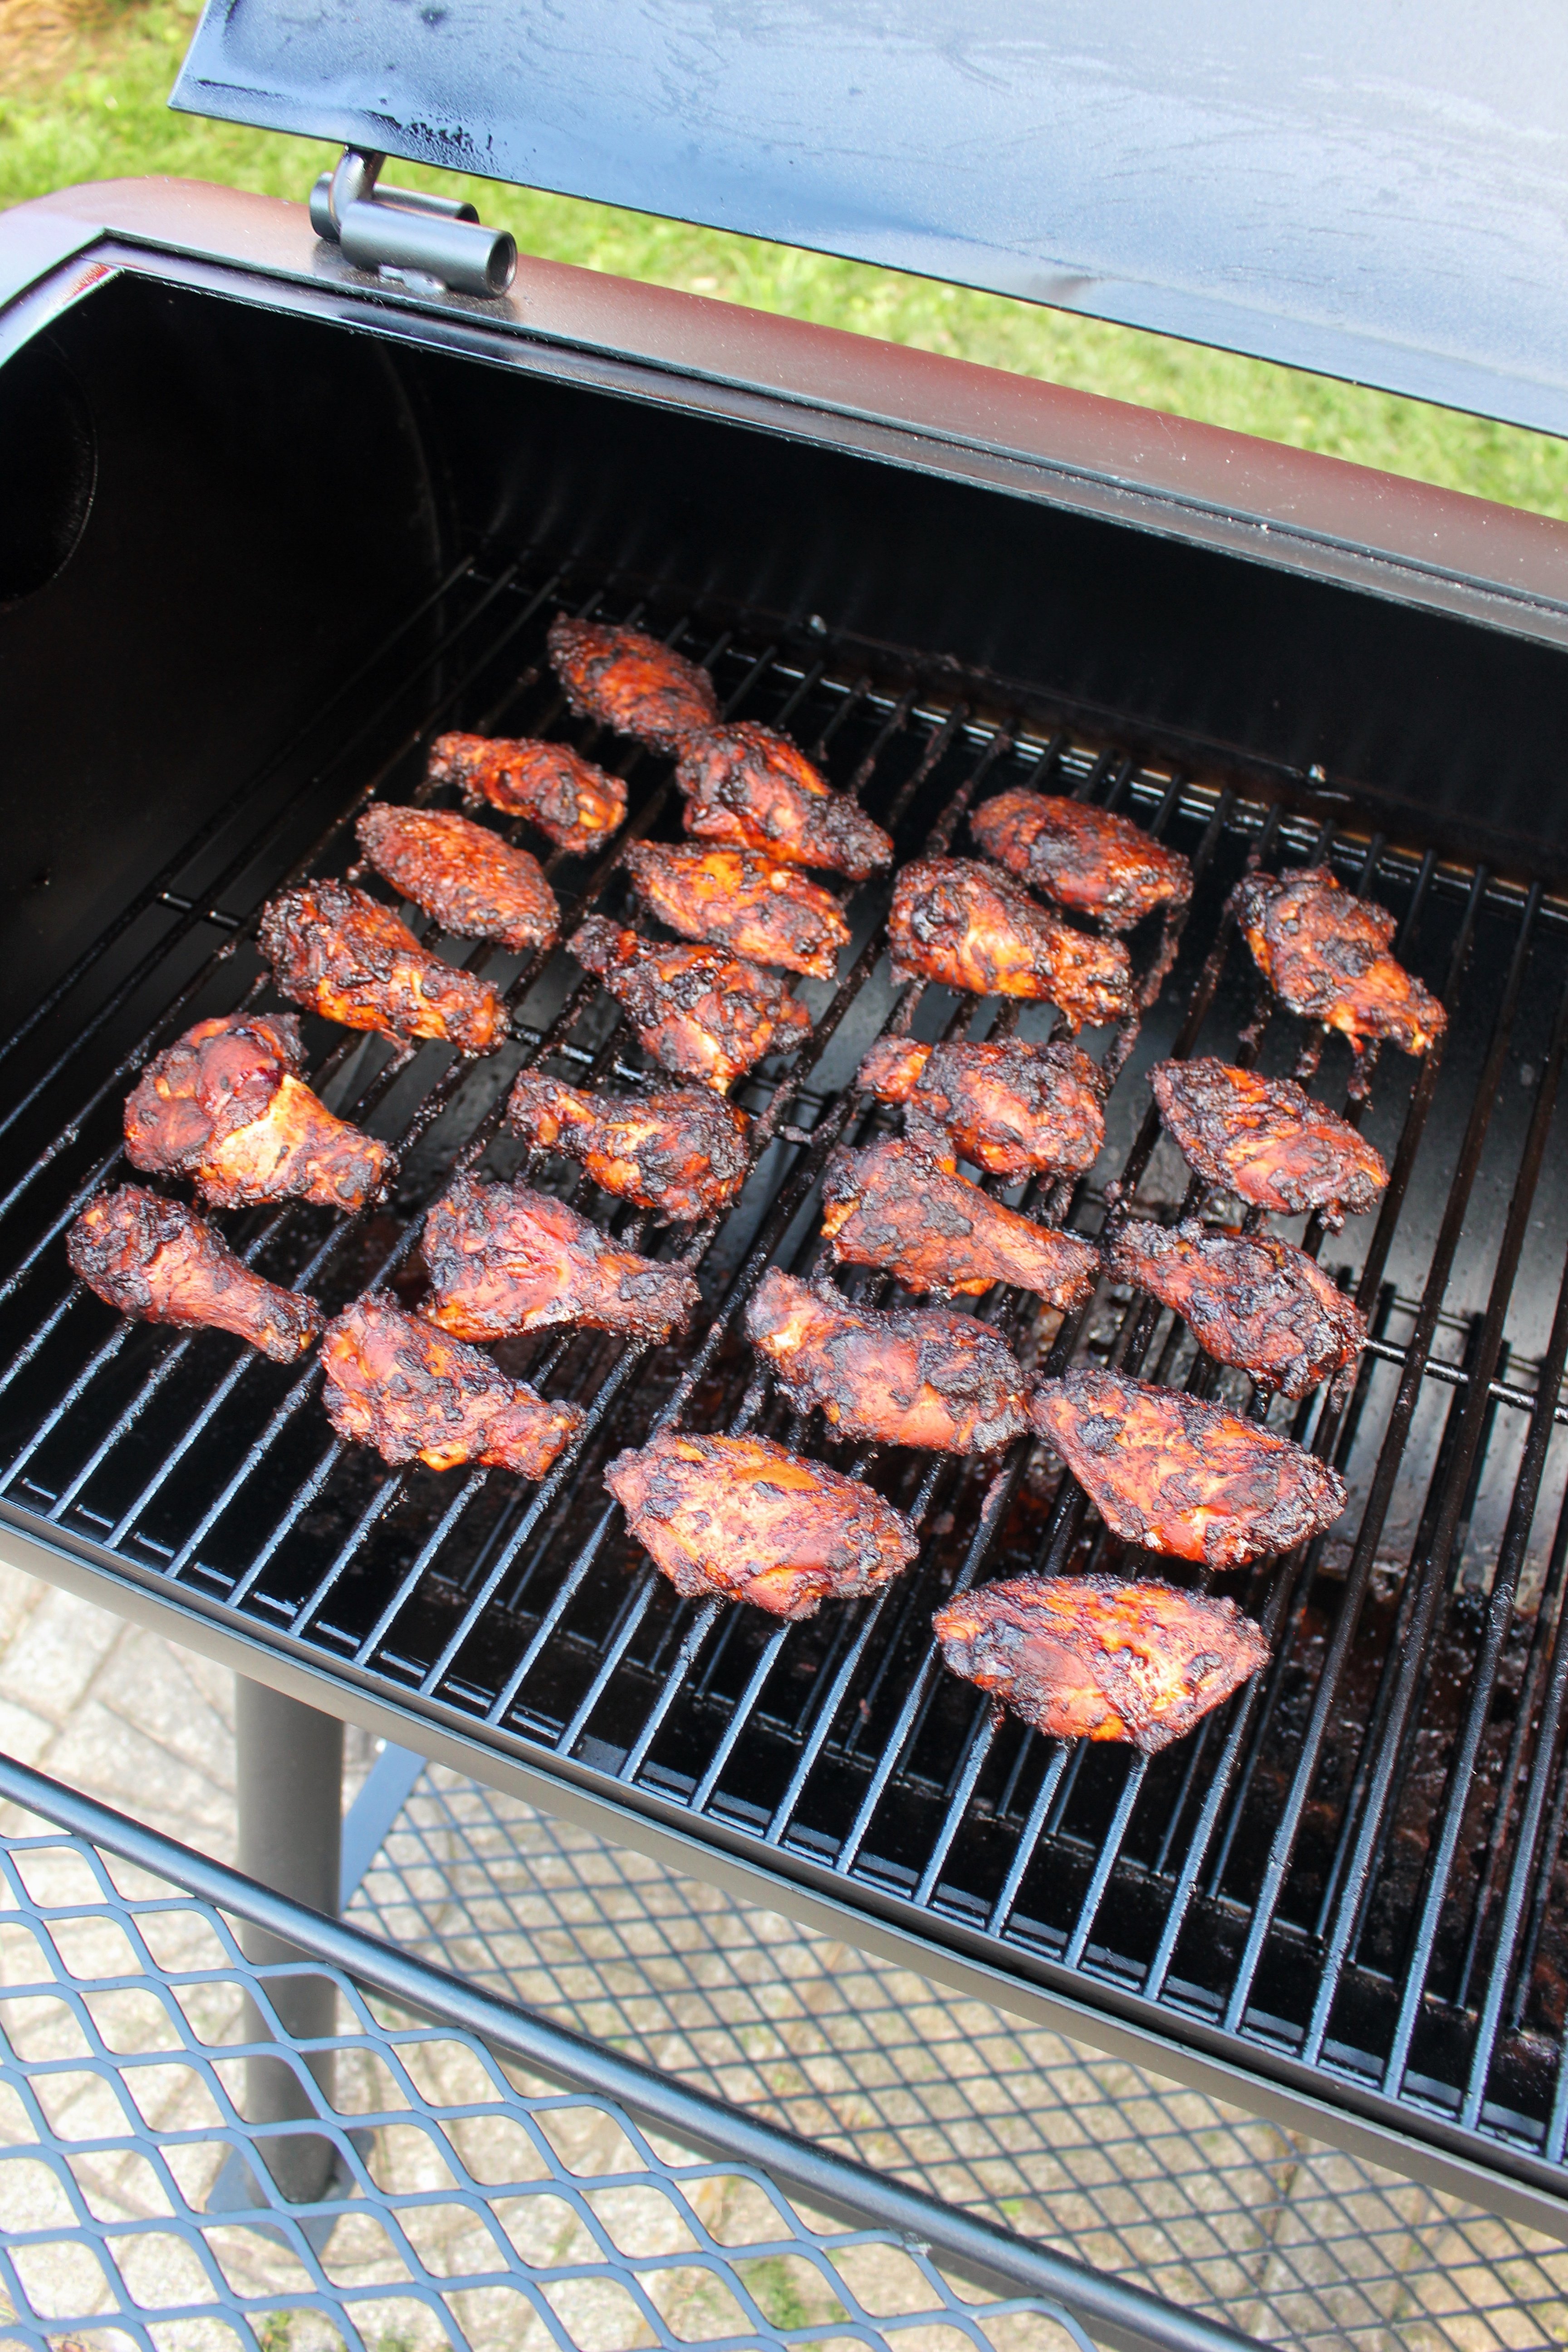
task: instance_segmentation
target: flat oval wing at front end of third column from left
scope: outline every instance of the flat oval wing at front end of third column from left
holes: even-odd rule
[[[860,1479],[766,1437],[654,1437],[618,1454],[604,1484],[682,1599],[755,1602],[816,1616],[898,1576],[914,1529]]]

